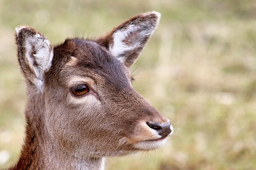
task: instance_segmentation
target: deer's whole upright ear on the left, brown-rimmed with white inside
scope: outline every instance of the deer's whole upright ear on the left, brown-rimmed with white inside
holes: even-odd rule
[[[44,35],[28,26],[17,27],[15,36],[20,69],[30,83],[42,91],[44,73],[52,63],[52,45]]]

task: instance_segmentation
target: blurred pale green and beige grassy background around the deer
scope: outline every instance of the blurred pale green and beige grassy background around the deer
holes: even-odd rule
[[[134,87],[175,135],[162,149],[107,158],[106,169],[256,169],[255,0],[0,0],[0,169],[17,160],[24,136],[14,28],[30,25],[58,44],[152,10],[162,19]]]

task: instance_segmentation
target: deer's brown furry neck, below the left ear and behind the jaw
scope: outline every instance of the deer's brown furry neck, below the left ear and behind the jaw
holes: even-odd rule
[[[56,146],[44,123],[44,112],[43,95],[30,95],[25,111],[25,143],[13,169],[104,169],[104,158],[78,158]]]

